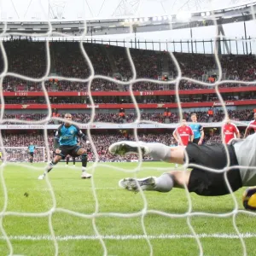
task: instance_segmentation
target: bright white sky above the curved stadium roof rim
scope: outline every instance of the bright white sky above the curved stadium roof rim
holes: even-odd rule
[[[0,0],[0,19],[48,20],[49,6],[65,20],[101,20],[225,9],[253,2],[256,0]]]

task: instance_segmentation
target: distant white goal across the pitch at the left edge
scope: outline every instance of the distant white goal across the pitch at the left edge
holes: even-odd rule
[[[28,162],[30,158],[27,147],[2,147],[0,151],[8,162]],[[45,162],[45,147],[35,148],[34,162]]]

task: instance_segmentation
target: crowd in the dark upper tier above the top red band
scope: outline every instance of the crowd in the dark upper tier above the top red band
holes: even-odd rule
[[[46,45],[44,42],[14,40],[3,43],[9,60],[9,72],[19,73],[32,78],[42,78],[46,73]],[[95,74],[101,74],[116,79],[131,79],[131,63],[125,48],[101,44],[79,44],[76,42],[50,42],[50,73],[64,78],[89,78],[91,68],[86,60],[84,47]],[[67,55],[68,52],[68,55]],[[218,78],[218,66],[214,55],[174,53],[182,75],[188,78],[207,81],[209,85]],[[159,79],[162,72],[167,70],[172,79],[177,77],[177,68],[167,52],[131,49],[137,78]],[[145,65],[147,63],[147,65]],[[167,64],[166,64],[167,63]],[[256,60],[253,55],[222,55],[220,63],[224,79],[249,82],[256,79]],[[0,70],[3,70],[3,55],[0,53]],[[48,91],[86,91],[88,84],[67,80],[45,79]],[[154,84],[138,82],[133,84],[133,90],[173,90],[175,84]],[[220,84],[220,87],[247,86],[247,84]],[[91,90],[128,90],[127,85],[119,85],[107,80],[94,79]],[[206,85],[182,80],[180,90],[202,89]],[[3,80],[3,90],[6,91],[38,91],[43,90],[42,84],[20,80],[7,76]]]

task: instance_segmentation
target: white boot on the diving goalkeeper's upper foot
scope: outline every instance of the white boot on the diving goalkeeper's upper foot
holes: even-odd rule
[[[142,151],[142,154],[149,154],[150,149],[147,147],[147,143],[143,142],[130,142],[130,141],[123,141],[118,143],[113,143],[109,146],[108,151],[111,154],[139,154],[139,148]]]

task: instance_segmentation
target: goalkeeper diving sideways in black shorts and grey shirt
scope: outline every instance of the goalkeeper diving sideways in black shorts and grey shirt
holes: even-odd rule
[[[246,139],[233,139],[226,145],[230,156],[230,169],[226,177],[232,192],[242,186],[256,185],[256,133]],[[130,190],[154,190],[169,192],[173,187],[187,187],[189,192],[197,195],[227,195],[230,194],[225,182],[225,172],[220,172],[228,165],[227,154],[222,143],[198,146],[189,143],[186,148],[171,148],[161,143],[119,142],[109,147],[112,154],[137,154],[141,148],[142,154],[151,155],[154,160],[184,164],[187,160],[191,172],[172,171],[163,173],[160,177],[145,177],[142,179],[124,178],[119,186]],[[193,166],[198,165],[198,166]],[[242,168],[238,168],[242,166]],[[214,169],[207,171],[205,167]]]

